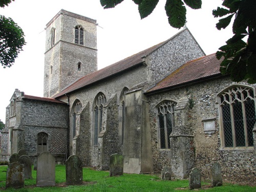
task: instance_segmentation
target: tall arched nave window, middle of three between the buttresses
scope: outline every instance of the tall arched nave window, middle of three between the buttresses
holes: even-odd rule
[[[98,144],[98,135],[102,131],[103,105],[106,103],[106,97],[99,93],[94,99],[94,145]]]

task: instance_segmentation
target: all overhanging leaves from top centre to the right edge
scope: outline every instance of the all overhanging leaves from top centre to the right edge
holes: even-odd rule
[[[114,8],[123,0],[100,0],[101,6]],[[150,15],[159,0],[133,0],[138,5],[140,17]],[[200,9],[202,0],[166,0],[165,11],[170,26],[180,29],[186,22],[186,4],[193,9]],[[218,59],[224,58],[220,71],[229,74],[233,81],[248,80],[256,82],[256,0],[223,0],[222,6],[212,11],[219,20],[217,29],[225,29],[234,17],[232,30],[234,36],[216,53]],[[243,39],[247,38],[247,42]]]

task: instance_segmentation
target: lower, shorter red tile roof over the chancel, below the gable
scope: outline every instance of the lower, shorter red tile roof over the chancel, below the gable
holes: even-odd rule
[[[148,90],[146,94],[180,86],[189,82],[199,81],[204,78],[221,75],[221,61],[222,60],[218,60],[216,58],[215,53],[188,61],[158,82],[156,86]]]

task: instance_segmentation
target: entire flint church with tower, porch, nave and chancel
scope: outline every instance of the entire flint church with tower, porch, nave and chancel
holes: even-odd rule
[[[1,161],[25,149],[124,173],[210,178],[218,162],[228,181],[255,184],[256,84],[221,75],[185,27],[151,48],[97,70],[96,20],[61,10],[46,26],[44,96],[16,89],[6,108]]]

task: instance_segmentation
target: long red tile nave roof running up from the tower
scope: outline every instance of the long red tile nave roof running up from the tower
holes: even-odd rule
[[[58,97],[63,96],[67,93],[70,93],[70,92],[78,90],[80,88],[89,86],[90,84],[96,83],[100,80],[103,80],[105,78],[109,78],[109,77],[114,76],[114,75],[116,75],[120,72],[123,72],[123,71],[127,70],[127,69],[130,69],[132,67],[135,67],[137,65],[142,64],[143,63],[142,57],[151,54],[153,51],[157,50],[158,48],[160,48],[161,46],[166,44],[169,40],[178,36],[180,33],[182,33],[185,30],[188,30],[188,29],[184,29],[184,30],[180,31],[179,33],[177,33],[172,38],[169,38],[169,39],[161,42],[158,45],[155,45],[151,48],[148,48],[144,51],[141,51],[141,52],[139,52],[137,54],[134,54],[130,57],[127,57],[123,60],[120,60],[120,61],[114,63],[113,65],[110,65],[110,66],[105,67],[101,70],[95,71],[93,73],[90,73],[90,74],[78,79],[76,82],[71,84],[69,87],[62,90],[60,93],[57,93],[56,95],[54,95],[53,98],[58,98]]]

